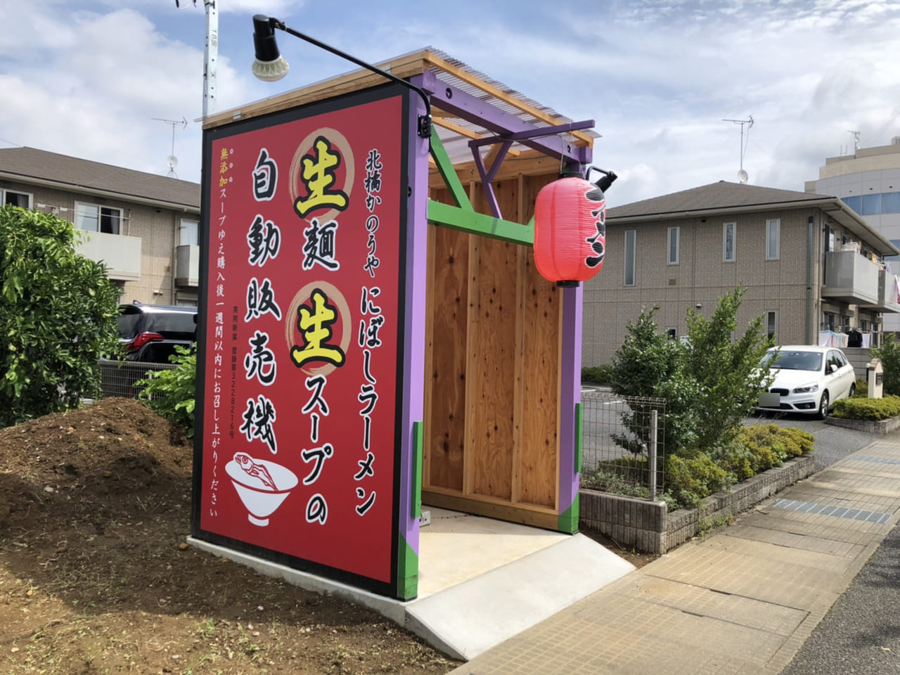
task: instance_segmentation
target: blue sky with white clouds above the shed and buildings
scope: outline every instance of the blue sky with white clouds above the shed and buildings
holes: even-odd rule
[[[900,136],[900,4],[855,0],[218,0],[218,111],[353,69],[279,33],[291,73],[250,74],[251,16],[378,61],[431,45],[603,136],[609,202],[737,179],[804,189],[825,157]],[[0,148],[200,180],[202,0],[0,3]],[[746,133],[746,127],[745,127]]]

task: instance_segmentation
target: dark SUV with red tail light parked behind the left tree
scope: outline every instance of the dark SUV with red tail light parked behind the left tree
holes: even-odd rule
[[[176,305],[119,305],[119,337],[129,361],[167,364],[175,345],[191,347],[197,308]]]

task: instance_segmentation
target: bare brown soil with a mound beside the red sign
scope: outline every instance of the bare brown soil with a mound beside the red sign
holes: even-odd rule
[[[0,430],[0,671],[446,673],[388,619],[185,544],[192,448],[111,398]],[[605,545],[635,565],[643,556]]]

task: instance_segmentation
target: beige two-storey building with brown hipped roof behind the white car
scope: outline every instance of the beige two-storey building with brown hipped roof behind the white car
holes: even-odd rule
[[[607,257],[584,284],[582,363],[608,364],[642,309],[673,339],[689,308],[709,316],[747,288],[739,331],[755,317],[777,342],[878,345],[900,312],[884,262],[900,250],[838,197],[720,181],[608,211]]]

